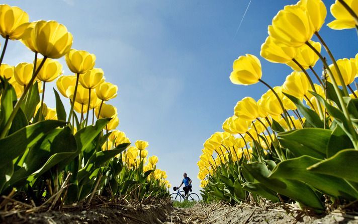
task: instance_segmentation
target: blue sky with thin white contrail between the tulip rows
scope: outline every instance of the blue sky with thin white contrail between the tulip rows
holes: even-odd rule
[[[182,173],[193,179],[203,142],[233,114],[245,96],[259,99],[261,84],[236,86],[229,75],[238,56],[259,56],[267,25],[288,0],[252,0],[235,36],[249,0],[236,1],[3,1],[16,5],[30,20],[56,20],[73,34],[73,48],[96,54],[96,67],[107,82],[118,86],[118,97],[109,101],[118,108],[119,130],[135,142],[149,141],[149,155],[168,174],[172,186]],[[333,20],[329,6],[326,23]],[[102,4],[100,4],[102,3]],[[321,30],[336,58],[353,57],[355,30]],[[4,43],[4,40],[1,41]],[[11,41],[4,62],[16,65],[33,60],[33,53]],[[282,85],[290,68],[261,59],[262,79]],[[71,74],[63,59],[65,75]],[[321,65],[317,64],[320,70]],[[54,107],[51,85],[45,102]]]

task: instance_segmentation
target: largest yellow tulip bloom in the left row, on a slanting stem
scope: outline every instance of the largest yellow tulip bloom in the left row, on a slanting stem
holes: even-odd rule
[[[30,34],[36,52],[49,58],[60,58],[72,46],[72,34],[56,21],[37,21]]]

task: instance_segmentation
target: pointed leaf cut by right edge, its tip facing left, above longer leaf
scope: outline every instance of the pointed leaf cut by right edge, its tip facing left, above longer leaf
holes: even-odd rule
[[[344,178],[348,181],[358,182],[357,150],[342,150],[327,160],[316,163],[307,169],[333,177]]]

